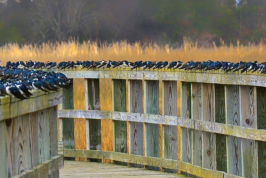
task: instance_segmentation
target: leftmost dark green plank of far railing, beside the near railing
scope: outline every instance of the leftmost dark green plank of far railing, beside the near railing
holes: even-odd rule
[[[70,82],[73,83],[73,79],[70,79]],[[63,102],[62,109],[74,109],[74,99],[73,99],[73,85],[69,89],[63,89]],[[60,124],[62,128],[62,139],[64,141],[64,148],[74,149],[74,118],[67,118],[62,121]],[[65,158],[67,160],[73,158]]]

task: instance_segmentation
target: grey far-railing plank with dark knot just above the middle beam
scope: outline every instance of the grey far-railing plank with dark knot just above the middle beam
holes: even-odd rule
[[[240,86],[241,126],[257,128],[256,87]],[[242,139],[244,177],[258,177],[257,141]]]

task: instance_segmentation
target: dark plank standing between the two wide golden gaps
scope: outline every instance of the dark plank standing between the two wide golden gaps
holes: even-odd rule
[[[85,79],[85,110],[100,110],[100,80]],[[86,119],[87,149],[101,150],[101,121]],[[90,160],[101,162],[102,160]]]

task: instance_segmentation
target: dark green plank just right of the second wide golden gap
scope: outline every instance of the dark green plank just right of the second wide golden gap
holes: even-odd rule
[[[113,111],[126,112],[126,80],[112,80]],[[126,121],[113,121],[113,151],[127,152]],[[116,162],[126,165],[126,163]]]

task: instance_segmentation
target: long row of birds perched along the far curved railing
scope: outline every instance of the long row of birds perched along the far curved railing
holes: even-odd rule
[[[167,61],[159,61],[159,62],[153,62],[153,61],[137,61],[137,62],[128,62],[126,60],[123,61],[77,61],[77,62],[7,62],[6,67],[22,67],[22,68],[31,68],[31,69],[58,69],[63,70],[67,68],[73,68],[73,67],[82,67],[81,69],[91,69],[91,68],[115,68],[115,67],[130,67],[131,70],[134,69],[184,69],[184,70],[222,70],[224,73],[227,73],[229,71],[240,71],[240,73],[243,72],[259,72],[260,74],[266,74],[266,62],[262,62],[258,64],[257,61],[254,62],[223,62],[223,61],[216,61],[213,62],[211,60],[204,61],[204,62],[181,62],[181,61],[173,61],[173,62],[167,62]]]

